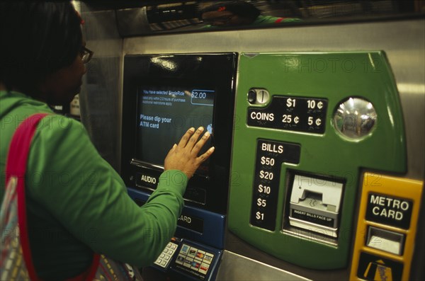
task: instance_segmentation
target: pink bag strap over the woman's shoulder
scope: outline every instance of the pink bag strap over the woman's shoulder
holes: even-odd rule
[[[45,113],[31,115],[18,126],[13,134],[11,144],[8,149],[6,161],[6,183],[11,176],[18,178],[18,224],[21,233],[21,246],[26,268],[31,280],[39,280],[35,273],[34,265],[31,261],[30,242],[28,239],[28,229],[26,224],[26,198],[25,198],[25,173],[30,151],[31,141],[37,129],[38,122],[45,117]]]

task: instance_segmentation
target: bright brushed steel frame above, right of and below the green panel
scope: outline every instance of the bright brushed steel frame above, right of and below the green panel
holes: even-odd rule
[[[191,52],[344,52],[383,50],[394,72],[404,112],[407,178],[425,176],[425,20],[347,23],[263,30],[217,31],[127,38],[124,54]],[[237,93],[246,95],[246,93]],[[390,153],[390,152],[389,152]],[[421,221],[419,221],[421,222]],[[423,223],[418,237],[424,235]],[[421,241],[421,239],[418,239]],[[416,268],[424,243],[415,251]],[[273,258],[227,232],[219,280],[288,280],[288,272],[314,280],[347,280],[345,270],[317,271]],[[237,253],[237,254],[236,254]],[[240,255],[240,256],[239,256]],[[261,263],[257,260],[261,260]],[[415,266],[412,266],[415,268]],[[421,276],[413,270],[412,277]],[[294,277],[295,278],[295,277]]]

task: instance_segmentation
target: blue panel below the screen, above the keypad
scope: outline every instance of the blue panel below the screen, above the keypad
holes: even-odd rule
[[[150,194],[128,188],[128,195],[130,195],[137,204],[142,205],[148,200]],[[218,249],[225,248],[225,215],[209,212],[196,207],[185,206],[183,207],[182,216],[202,220],[203,227],[200,231],[195,231],[188,227],[178,225],[175,234],[176,237],[190,239]]]

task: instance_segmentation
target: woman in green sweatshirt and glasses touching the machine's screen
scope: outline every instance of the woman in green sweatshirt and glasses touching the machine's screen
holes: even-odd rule
[[[72,4],[1,2],[0,21],[1,198],[13,132],[34,113],[50,114],[28,156],[28,234],[21,234],[29,236],[38,277],[64,280],[84,273],[93,252],[137,267],[151,264],[174,234],[188,178],[214,151],[198,156],[208,132],[186,132],[166,156],[157,190],[138,207],[84,127],[47,106],[72,101],[92,55]]]

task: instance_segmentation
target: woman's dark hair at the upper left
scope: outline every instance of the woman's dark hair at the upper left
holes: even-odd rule
[[[8,91],[37,94],[48,74],[81,52],[81,18],[70,1],[1,1],[0,22],[0,81]]]

